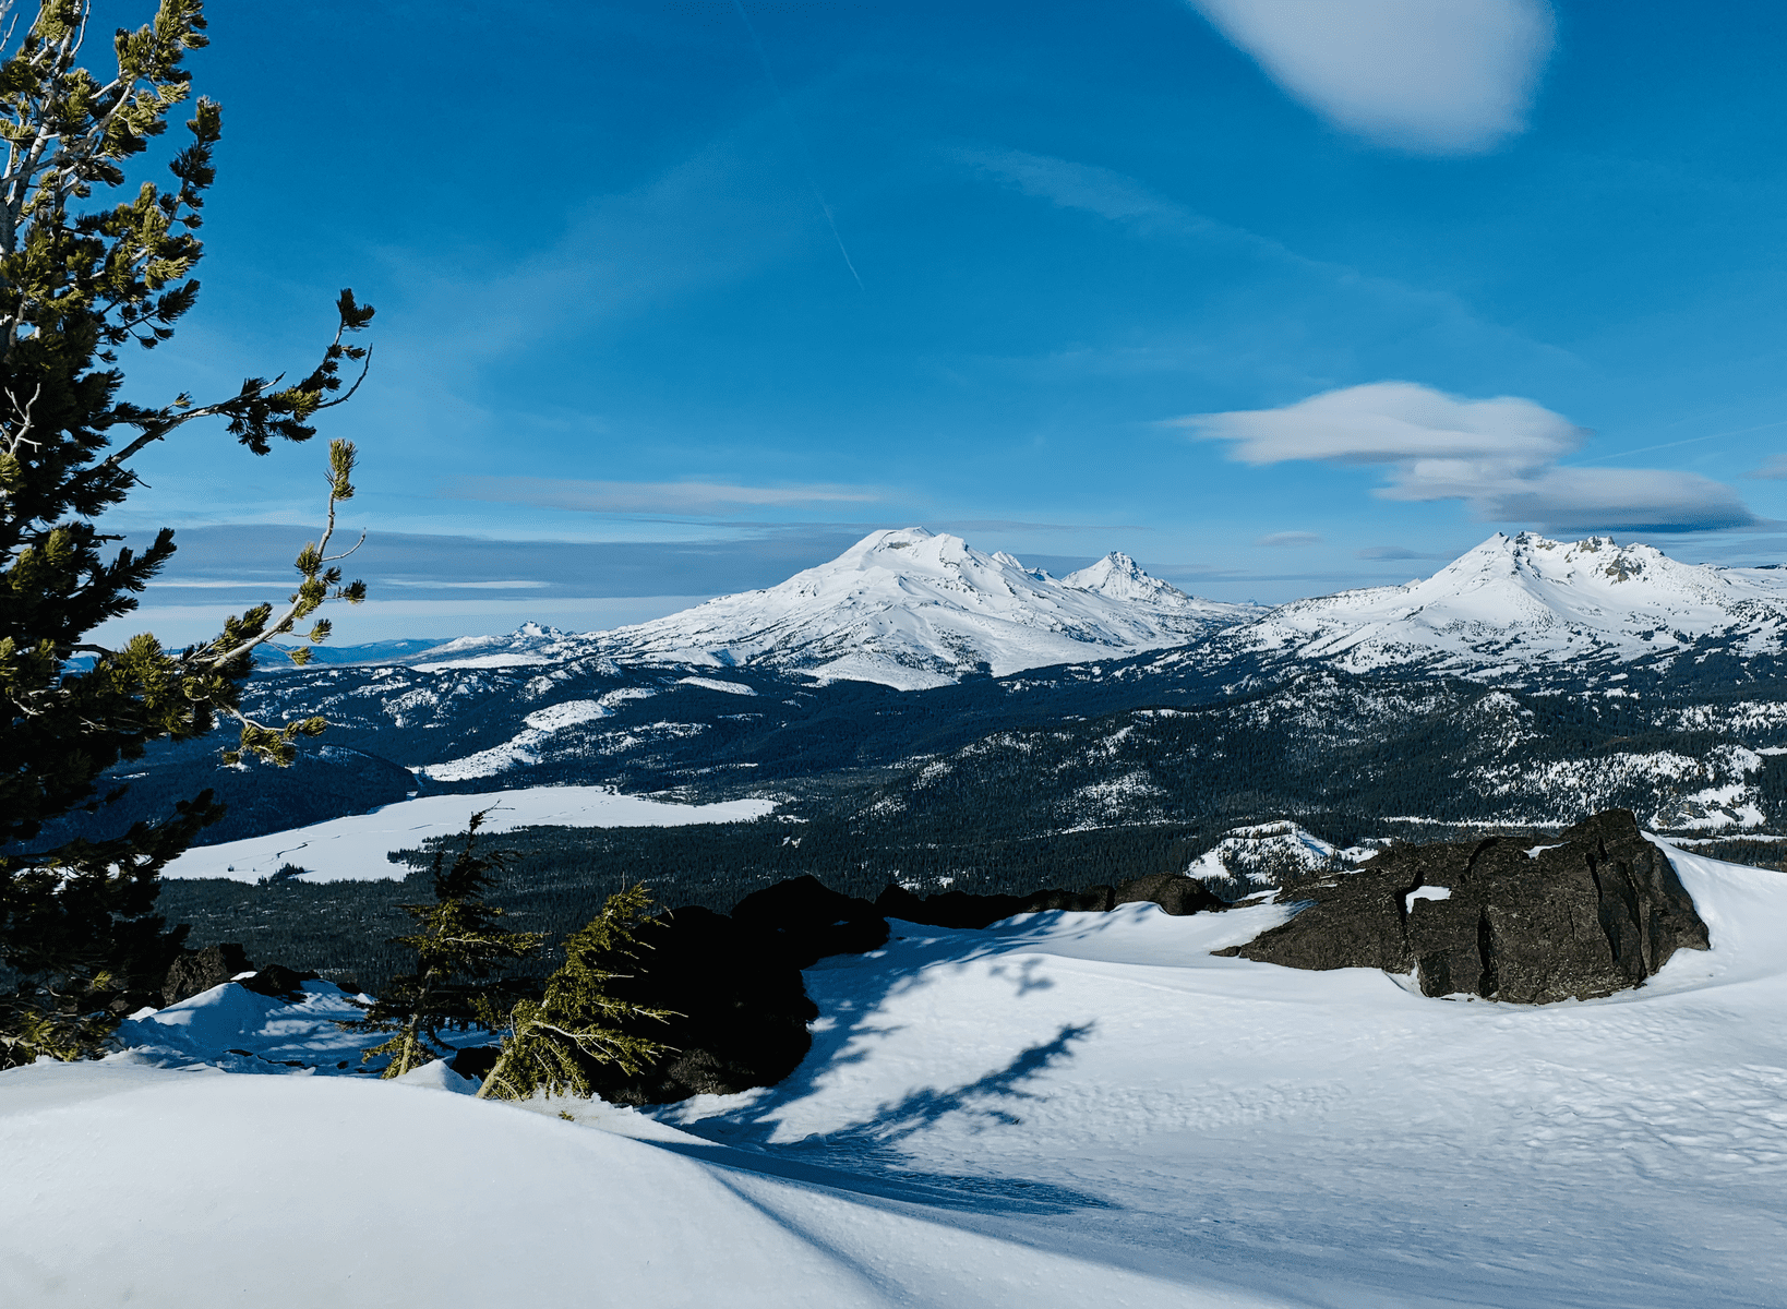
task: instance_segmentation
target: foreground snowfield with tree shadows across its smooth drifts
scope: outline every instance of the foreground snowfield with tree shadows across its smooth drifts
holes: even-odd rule
[[[1787,877],[1665,848],[1714,948],[1605,1000],[1208,954],[1279,905],[895,923],[784,1084],[652,1113],[223,986],[0,1073],[0,1304],[1778,1305]]]

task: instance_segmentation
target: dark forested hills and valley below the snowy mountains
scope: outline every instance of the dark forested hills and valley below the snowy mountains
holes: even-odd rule
[[[225,768],[207,743],[152,752],[118,775],[122,800],[57,838],[204,788],[229,805],[209,841],[416,793],[575,782],[779,800],[758,823],[499,838],[524,855],[499,900],[516,927],[559,936],[622,882],[711,909],[802,873],[867,896],[1081,888],[1185,870],[1231,829],[1279,818],[1337,846],[1555,830],[1607,807],[1698,841],[1787,834],[1787,668],[1723,650],[1501,679],[1194,650],[913,693],[604,659],[329,666],[263,673],[252,700],[315,705],[332,727],[291,770]],[[1739,848],[1751,863],[1778,850]],[[172,882],[163,909],[195,941],[372,984],[397,905],[422,889]]]

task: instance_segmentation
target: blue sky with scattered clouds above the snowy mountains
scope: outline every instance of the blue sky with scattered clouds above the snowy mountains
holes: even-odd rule
[[[139,5],[102,16],[139,21]],[[379,305],[343,641],[606,627],[924,523],[1285,600],[1492,530],[1787,554],[1787,11],[218,5],[145,402]],[[186,430],[145,621],[289,577],[322,450]]]

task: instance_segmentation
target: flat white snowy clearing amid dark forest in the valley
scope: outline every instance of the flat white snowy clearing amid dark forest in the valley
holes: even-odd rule
[[[425,795],[400,800],[370,814],[331,818],[272,836],[204,845],[188,850],[163,877],[227,877],[259,882],[286,864],[304,870],[304,882],[373,882],[409,875],[407,864],[386,859],[431,836],[465,830],[475,811],[488,809],[486,832],[515,827],[684,827],[688,823],[743,823],[776,811],[774,800],[670,804],[642,795],[618,795],[609,786],[531,786],[475,795]]]

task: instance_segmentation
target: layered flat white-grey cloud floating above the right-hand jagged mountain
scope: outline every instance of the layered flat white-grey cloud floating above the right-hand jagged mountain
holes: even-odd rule
[[[1381,464],[1387,500],[1465,500],[1485,521],[1549,530],[1689,532],[1755,516],[1723,482],[1658,468],[1560,468],[1589,432],[1519,396],[1465,400],[1414,382],[1372,382],[1283,409],[1178,420],[1233,441],[1249,464]]]

